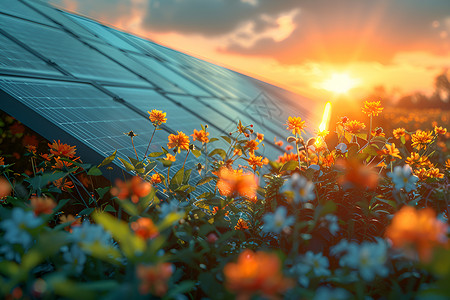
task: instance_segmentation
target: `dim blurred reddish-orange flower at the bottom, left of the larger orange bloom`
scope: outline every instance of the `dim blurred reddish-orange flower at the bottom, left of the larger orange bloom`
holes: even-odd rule
[[[136,277],[141,281],[139,292],[142,295],[151,293],[163,297],[169,288],[167,282],[173,273],[170,263],[158,263],[155,266],[138,265]]]

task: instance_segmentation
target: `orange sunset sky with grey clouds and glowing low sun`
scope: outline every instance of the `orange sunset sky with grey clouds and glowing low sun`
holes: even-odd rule
[[[48,0],[313,99],[433,91],[450,0]]]

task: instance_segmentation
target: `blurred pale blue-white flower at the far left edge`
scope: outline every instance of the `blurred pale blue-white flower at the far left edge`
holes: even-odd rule
[[[32,211],[25,211],[22,208],[15,207],[12,210],[11,218],[2,221],[0,228],[5,230],[3,238],[6,242],[20,244],[24,249],[27,249],[33,242],[28,230],[41,224],[42,219],[36,217]]]

